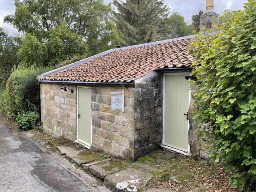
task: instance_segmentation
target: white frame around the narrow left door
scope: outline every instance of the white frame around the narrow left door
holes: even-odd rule
[[[76,143],[79,143],[80,145],[90,149],[91,148],[91,144],[86,143],[82,140],[80,140],[78,138],[79,135],[79,118],[78,118],[78,109],[79,109],[79,89],[78,88],[89,88],[91,89],[91,87],[86,87],[86,86],[76,86],[76,122],[77,122],[77,137],[76,137]],[[92,121],[91,121],[91,142],[93,142],[93,125],[92,125]]]

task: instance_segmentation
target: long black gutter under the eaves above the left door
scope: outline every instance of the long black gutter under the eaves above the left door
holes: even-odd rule
[[[84,81],[56,81],[56,80],[39,80],[42,83],[61,83],[61,84],[82,84],[82,85],[121,85],[121,86],[134,86],[135,83],[107,83],[107,82],[84,82]]]

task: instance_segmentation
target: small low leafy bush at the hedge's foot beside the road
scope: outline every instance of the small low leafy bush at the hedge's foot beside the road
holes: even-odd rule
[[[37,122],[38,113],[27,111],[21,112],[16,117],[15,121],[19,125],[20,131],[26,131],[31,129],[33,125]]]

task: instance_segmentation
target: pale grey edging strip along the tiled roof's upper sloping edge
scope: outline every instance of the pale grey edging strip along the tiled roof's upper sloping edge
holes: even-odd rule
[[[43,74],[41,74],[39,76],[39,80],[41,78],[44,78],[45,76],[52,75],[52,74],[55,74],[55,73],[60,72],[60,71],[64,71],[65,69],[69,69],[71,67],[75,67],[76,65],[79,65],[79,64],[85,63],[87,61],[96,59],[96,58],[98,58],[100,56],[103,56],[105,54],[111,53],[113,51],[126,50],[126,49],[137,48],[137,47],[148,46],[148,45],[156,45],[156,44],[161,44],[161,43],[166,43],[166,42],[173,42],[173,41],[177,41],[177,40],[181,40],[181,39],[190,39],[190,38],[193,38],[193,37],[195,37],[195,35],[189,35],[189,36],[178,37],[178,38],[173,38],[173,39],[166,39],[166,40],[162,40],[162,41],[154,41],[154,42],[150,42],[150,43],[139,44],[139,45],[132,45],[132,46],[127,46],[127,47],[122,47],[122,48],[109,49],[109,50],[107,50],[105,52],[102,52],[102,53],[96,54],[94,56],[87,57],[85,59],[76,61],[75,63],[71,63],[71,64],[65,65],[63,67],[54,69],[52,71],[45,72],[45,73],[43,73]]]

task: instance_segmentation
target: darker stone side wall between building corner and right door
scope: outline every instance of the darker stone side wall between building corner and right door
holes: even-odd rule
[[[163,129],[163,74],[151,73],[135,82],[134,125],[138,137],[134,149],[137,157],[159,149]]]

